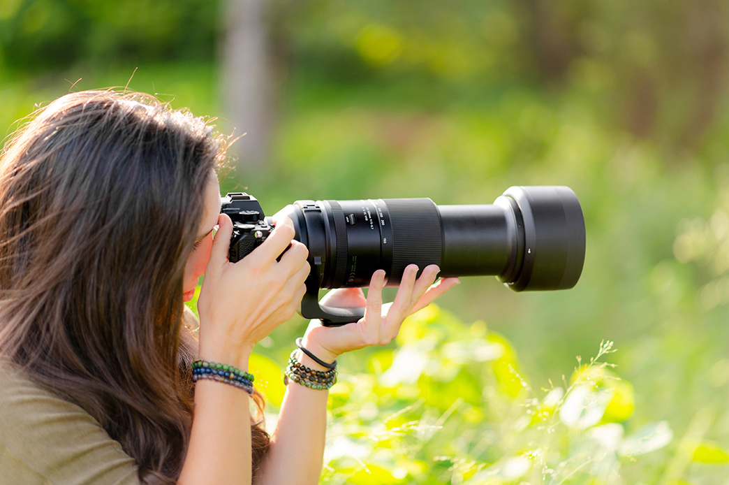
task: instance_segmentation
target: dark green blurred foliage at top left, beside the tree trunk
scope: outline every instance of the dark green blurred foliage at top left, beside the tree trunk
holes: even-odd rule
[[[0,61],[45,73],[73,63],[210,61],[217,1],[3,0]]]

